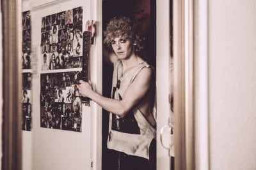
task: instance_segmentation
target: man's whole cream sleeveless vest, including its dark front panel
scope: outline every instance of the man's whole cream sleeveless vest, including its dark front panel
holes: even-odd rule
[[[122,75],[122,61],[116,61],[112,81],[113,99],[122,100],[125,90],[143,67],[150,67],[150,65],[147,62],[142,62]],[[154,138],[156,138],[156,129],[149,124],[137,107],[122,118],[112,113],[109,114],[109,138],[107,144],[109,149],[149,159],[148,150]]]

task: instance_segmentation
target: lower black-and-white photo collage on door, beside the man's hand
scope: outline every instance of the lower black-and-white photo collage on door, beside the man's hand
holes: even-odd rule
[[[41,127],[81,132],[80,71],[41,74]]]

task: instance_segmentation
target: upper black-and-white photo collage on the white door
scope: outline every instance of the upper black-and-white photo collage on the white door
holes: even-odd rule
[[[82,67],[83,8],[42,17],[42,71]]]

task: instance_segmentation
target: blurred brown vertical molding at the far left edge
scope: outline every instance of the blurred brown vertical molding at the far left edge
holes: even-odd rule
[[[2,169],[22,168],[21,159],[21,6],[20,0],[2,0],[3,14],[3,157]]]

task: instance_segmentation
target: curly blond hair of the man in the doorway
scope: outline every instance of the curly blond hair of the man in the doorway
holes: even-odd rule
[[[104,31],[104,36],[104,45],[111,49],[111,41],[119,36],[136,43],[136,51],[144,48],[145,38],[138,27],[138,22],[131,17],[116,16],[112,18]]]

